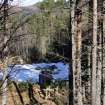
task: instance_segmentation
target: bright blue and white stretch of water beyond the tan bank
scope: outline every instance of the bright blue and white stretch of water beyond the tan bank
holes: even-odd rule
[[[42,70],[51,71],[54,80],[69,79],[69,64],[62,62],[15,65],[13,68],[8,67],[8,76],[13,81],[36,83]],[[0,79],[2,77],[3,73],[0,73]]]

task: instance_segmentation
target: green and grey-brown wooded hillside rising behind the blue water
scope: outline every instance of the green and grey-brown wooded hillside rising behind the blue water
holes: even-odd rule
[[[25,53],[27,52],[26,54],[24,53],[25,57],[31,49],[34,51],[37,50],[41,56],[46,56],[47,53],[48,55],[50,53],[51,55],[54,54],[52,56],[55,56],[55,58],[58,55],[61,59],[69,59],[68,54],[70,53],[70,50],[65,52],[65,49],[67,49],[70,45],[70,36],[67,23],[69,14],[67,9],[57,6],[54,8],[52,7],[52,10],[49,12],[41,10],[40,6],[37,6],[37,4],[30,7],[13,7],[12,9],[13,10],[11,11],[18,12],[12,16],[12,21],[17,21],[16,24],[29,18],[28,22],[17,29],[14,34],[17,34],[17,36],[20,36],[19,33],[25,34],[20,37],[20,42],[15,42],[21,49],[21,51],[17,51],[17,53],[24,53],[22,51],[25,49]],[[29,41],[29,43],[27,43],[27,41]],[[59,46],[56,46],[55,43],[58,43]],[[10,47],[13,47],[12,44]],[[61,51],[58,51],[59,48],[61,48]],[[55,52],[53,52],[54,50]],[[62,58],[63,56],[65,56],[65,58]],[[29,54],[27,57],[27,59],[29,59]]]

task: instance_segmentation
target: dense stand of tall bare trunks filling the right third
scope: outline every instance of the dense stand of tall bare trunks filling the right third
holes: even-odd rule
[[[105,1],[71,0],[73,105],[105,105]]]

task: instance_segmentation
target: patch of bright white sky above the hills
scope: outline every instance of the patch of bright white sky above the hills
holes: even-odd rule
[[[13,5],[30,6],[42,0],[13,0]]]

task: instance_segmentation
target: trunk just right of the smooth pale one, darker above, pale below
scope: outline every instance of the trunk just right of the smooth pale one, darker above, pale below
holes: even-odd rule
[[[102,88],[102,40],[103,40],[103,0],[98,1],[98,11],[100,16],[98,16],[98,35],[97,35],[97,79],[96,79],[96,105],[101,105],[101,88]]]

